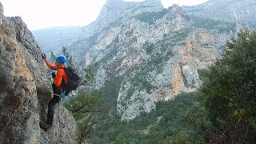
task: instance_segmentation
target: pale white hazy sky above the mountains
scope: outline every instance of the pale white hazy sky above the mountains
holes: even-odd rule
[[[143,1],[143,0],[125,0]],[[197,5],[207,0],[162,0],[165,7]],[[86,26],[93,22],[106,0],[0,0],[7,17],[21,16],[30,30],[52,26]]]

